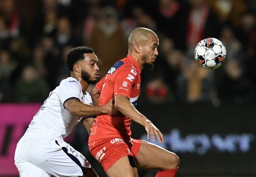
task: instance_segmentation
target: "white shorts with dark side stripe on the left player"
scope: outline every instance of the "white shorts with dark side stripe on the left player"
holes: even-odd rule
[[[68,143],[48,138],[20,141],[15,165],[20,177],[83,176],[85,168],[91,168],[86,158]]]

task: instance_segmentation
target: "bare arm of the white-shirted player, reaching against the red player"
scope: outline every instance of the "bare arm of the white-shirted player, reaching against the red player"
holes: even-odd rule
[[[70,99],[65,102],[64,106],[70,114],[76,115],[77,117],[88,117],[90,115],[102,114],[116,114],[116,108],[114,107],[112,101],[108,102],[104,106],[93,106],[90,104],[84,104],[78,99]]]

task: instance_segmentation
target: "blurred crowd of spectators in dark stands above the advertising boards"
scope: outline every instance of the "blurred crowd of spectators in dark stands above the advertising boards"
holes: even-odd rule
[[[255,101],[254,0],[1,0],[0,102],[44,102],[70,73],[66,53],[94,49],[103,77],[127,55],[136,27],[159,37],[154,71],[143,70],[151,103],[243,104]],[[214,37],[226,47],[221,68],[200,68],[194,48]]]

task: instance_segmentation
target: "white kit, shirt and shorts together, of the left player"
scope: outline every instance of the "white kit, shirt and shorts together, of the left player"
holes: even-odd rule
[[[81,120],[65,109],[64,104],[70,99],[93,104],[89,93],[83,93],[76,78],[62,80],[49,93],[17,143],[15,165],[20,177],[83,176],[85,169],[91,168],[83,154],[63,140]]]

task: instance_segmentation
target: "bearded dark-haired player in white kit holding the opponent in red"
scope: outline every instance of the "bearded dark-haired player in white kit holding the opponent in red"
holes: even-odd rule
[[[115,114],[112,102],[92,106],[90,84],[99,77],[98,59],[93,49],[77,47],[67,54],[71,77],[61,81],[38,110],[29,128],[17,143],[15,165],[24,176],[90,176],[97,174],[86,158],[63,138],[82,121],[88,133],[94,115]]]

